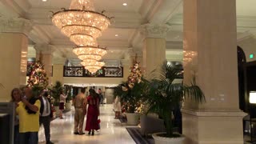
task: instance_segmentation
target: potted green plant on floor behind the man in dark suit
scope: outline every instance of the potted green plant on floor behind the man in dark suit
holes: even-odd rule
[[[55,115],[58,115],[59,113],[59,97],[63,89],[64,87],[62,86],[62,83],[57,81],[55,85],[52,87],[52,89],[50,90],[52,97],[54,98]]]

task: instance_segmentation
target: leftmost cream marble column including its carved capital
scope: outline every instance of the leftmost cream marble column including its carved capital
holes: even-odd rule
[[[10,100],[14,87],[26,85],[29,20],[0,18],[0,101]]]

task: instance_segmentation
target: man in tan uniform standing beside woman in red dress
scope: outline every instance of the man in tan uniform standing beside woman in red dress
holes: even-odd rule
[[[83,103],[85,99],[85,92],[85,88],[82,88],[81,93],[74,98],[74,134],[85,134],[82,131],[83,121],[85,118],[84,111],[86,110]]]

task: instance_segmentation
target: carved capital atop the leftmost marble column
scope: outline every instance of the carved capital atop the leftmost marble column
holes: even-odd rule
[[[25,18],[0,18],[0,32],[3,33],[21,33],[28,36],[32,30],[33,24]]]

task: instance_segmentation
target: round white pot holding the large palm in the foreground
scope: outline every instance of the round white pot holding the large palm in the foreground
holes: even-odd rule
[[[152,137],[154,138],[155,144],[183,144],[185,137],[182,134],[179,134],[180,137],[178,138],[167,138],[158,136],[159,134],[166,134],[166,133],[154,133]],[[176,133],[178,134],[178,133]]]

